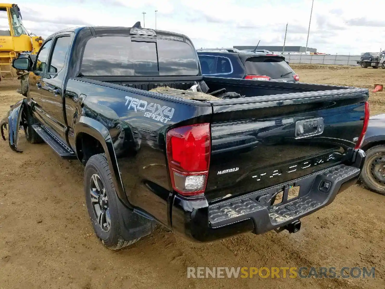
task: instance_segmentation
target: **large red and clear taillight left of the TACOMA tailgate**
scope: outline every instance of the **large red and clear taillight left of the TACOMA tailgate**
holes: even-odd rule
[[[210,165],[210,124],[171,129],[166,139],[172,188],[184,196],[203,194]]]

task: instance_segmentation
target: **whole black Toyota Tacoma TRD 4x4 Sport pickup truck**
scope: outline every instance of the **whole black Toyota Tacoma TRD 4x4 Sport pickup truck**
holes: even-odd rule
[[[201,242],[296,232],[357,181],[365,159],[367,89],[202,77],[185,35],[68,29],[13,67],[29,71],[28,89],[3,138],[8,129],[20,151],[21,128],[85,165],[90,219],[110,249],[159,223]],[[154,91],[182,96],[202,81],[223,97]]]

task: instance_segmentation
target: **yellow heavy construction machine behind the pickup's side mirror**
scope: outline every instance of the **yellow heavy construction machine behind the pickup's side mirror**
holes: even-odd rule
[[[41,36],[25,29],[16,4],[0,3],[0,81],[5,74],[22,75],[24,71],[12,68],[12,60],[23,53],[36,54],[42,43]]]

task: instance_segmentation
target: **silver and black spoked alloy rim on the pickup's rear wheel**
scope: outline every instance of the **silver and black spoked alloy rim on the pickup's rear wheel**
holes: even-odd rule
[[[97,223],[99,224],[100,229],[104,232],[108,232],[111,227],[108,198],[102,180],[97,174],[91,176],[90,196]]]

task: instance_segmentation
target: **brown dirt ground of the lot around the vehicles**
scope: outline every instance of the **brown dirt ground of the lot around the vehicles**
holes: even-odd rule
[[[293,66],[302,82],[374,88],[385,70]],[[20,99],[18,81],[0,82],[0,116]],[[385,112],[385,92],[370,95]],[[22,134],[22,131],[20,131]],[[20,137],[23,153],[0,141],[0,288],[384,288],[385,197],[358,184],[302,219],[296,234],[244,234],[208,244],[157,230],[120,251],[94,235],[83,167],[46,144]],[[360,279],[187,279],[186,267],[376,267]]]

